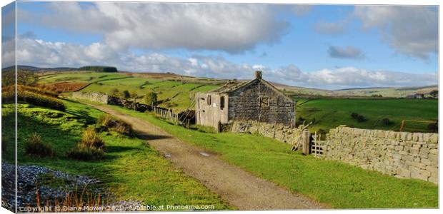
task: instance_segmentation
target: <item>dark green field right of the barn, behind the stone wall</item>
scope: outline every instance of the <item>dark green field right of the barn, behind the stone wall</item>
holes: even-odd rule
[[[399,131],[402,120],[435,121],[438,118],[438,100],[419,99],[339,99],[320,98],[297,100],[297,119],[307,123],[313,121],[310,131],[328,131],[339,125],[356,128],[372,128]],[[351,113],[364,116],[366,121],[359,122]],[[385,125],[383,118],[391,123]],[[429,131],[429,123],[406,121],[405,131]]]

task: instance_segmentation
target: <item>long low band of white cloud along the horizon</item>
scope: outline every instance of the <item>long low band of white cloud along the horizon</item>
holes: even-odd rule
[[[8,46],[14,41],[4,41]],[[425,86],[437,84],[437,73],[402,73],[394,71],[369,71],[362,68],[344,67],[301,71],[290,64],[269,68],[262,64],[237,64],[221,56],[191,56],[180,58],[153,53],[137,55],[131,51],[117,52],[100,43],[89,46],[64,42],[48,42],[29,37],[19,37],[17,55],[19,65],[41,67],[55,66],[116,66],[120,71],[172,72],[190,76],[212,78],[251,79],[254,71],[262,70],[269,81],[292,86],[315,88],[350,88],[373,86]],[[4,53],[8,54],[8,53]]]

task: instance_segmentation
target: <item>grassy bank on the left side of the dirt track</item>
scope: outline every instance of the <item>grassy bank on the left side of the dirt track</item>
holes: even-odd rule
[[[74,148],[81,132],[103,114],[81,103],[64,101],[66,112],[19,104],[19,164],[44,165],[67,173],[88,175],[101,180],[100,187],[114,193],[116,200],[139,200],[144,205],[214,205],[216,210],[229,209],[218,195],[211,193],[198,180],[184,174],[166,161],[146,141],[116,132],[103,132],[106,155],[102,161],[76,161],[64,156]],[[12,105],[2,106],[3,117],[13,117]],[[13,127],[2,126],[2,138],[14,133]],[[24,141],[39,133],[56,151],[55,158],[36,158],[24,154]],[[10,144],[14,141],[8,141]],[[14,148],[8,145],[7,148]],[[14,156],[3,153],[3,161]]]

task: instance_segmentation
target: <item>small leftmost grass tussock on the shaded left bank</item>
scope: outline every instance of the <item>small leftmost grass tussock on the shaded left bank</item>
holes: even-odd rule
[[[54,157],[55,151],[49,144],[44,143],[37,133],[33,133],[24,142],[24,151],[27,155],[39,157]]]

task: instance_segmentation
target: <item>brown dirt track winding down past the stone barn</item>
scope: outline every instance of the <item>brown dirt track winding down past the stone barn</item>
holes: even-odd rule
[[[149,145],[182,168],[186,174],[200,180],[207,188],[240,210],[328,208],[327,205],[317,203],[304,195],[291,193],[272,182],[221,161],[211,152],[184,143],[147,121],[106,106],[89,105],[130,123],[139,136],[149,141]]]

